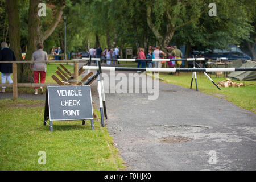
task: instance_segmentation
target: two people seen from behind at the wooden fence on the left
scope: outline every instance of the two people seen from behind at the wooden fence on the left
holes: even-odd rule
[[[8,44],[6,42],[1,43],[1,51],[0,51],[0,61],[16,61],[16,57],[14,52],[8,47]],[[32,61],[42,61],[42,60],[48,60],[47,52],[43,51],[43,44],[38,43],[36,45],[38,48],[37,51],[35,51],[32,54]],[[34,82],[39,82],[39,75],[40,75],[40,83],[44,83],[46,80],[46,63],[34,63],[30,64],[30,68],[33,70],[33,77]],[[11,79],[11,73],[13,73],[13,64],[12,63],[1,63],[0,64],[0,71],[1,71],[1,78],[2,78],[2,84],[6,83],[6,80],[9,82],[9,84],[13,83],[13,80]],[[1,93],[5,93],[5,86],[2,87]],[[41,93],[43,94],[43,87],[40,87]],[[38,94],[38,87],[35,87],[35,95]]]

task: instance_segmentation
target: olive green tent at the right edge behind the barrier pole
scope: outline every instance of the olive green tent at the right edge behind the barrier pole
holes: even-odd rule
[[[232,65],[234,67],[234,65]],[[246,61],[246,63],[243,63],[240,68],[255,68],[256,62],[253,61]],[[236,67],[238,68],[238,67]],[[242,72],[232,72],[228,75],[229,78],[232,78],[233,80],[256,80],[256,71],[242,71]]]

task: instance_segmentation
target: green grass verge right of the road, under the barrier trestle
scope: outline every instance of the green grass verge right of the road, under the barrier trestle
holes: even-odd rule
[[[216,84],[218,81],[225,80],[222,75],[220,75],[220,78],[215,78],[215,75],[212,75],[211,77],[212,80],[216,82]],[[162,79],[163,82],[180,85],[184,88],[190,88],[192,72],[181,73],[181,76],[168,75],[168,73],[160,73],[159,78]],[[256,113],[256,81],[233,81],[244,82],[246,86],[242,86],[240,88],[221,87],[221,90],[218,90],[216,86],[213,86],[213,83],[203,73],[197,72],[197,85],[200,92],[211,94],[220,98],[225,98],[226,100],[236,104],[238,107]],[[195,79],[193,80],[192,88],[196,88]]]

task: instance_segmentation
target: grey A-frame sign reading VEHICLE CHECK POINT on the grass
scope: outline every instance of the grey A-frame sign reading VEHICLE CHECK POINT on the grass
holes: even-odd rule
[[[44,107],[44,125],[52,121],[91,120],[93,124],[92,94],[90,86],[47,86]]]

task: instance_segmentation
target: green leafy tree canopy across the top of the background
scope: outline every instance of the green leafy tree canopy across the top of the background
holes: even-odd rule
[[[6,5],[0,0],[0,39],[10,40]],[[38,3],[46,3],[46,17],[38,17]],[[255,1],[216,0],[216,16],[209,16],[212,1],[206,0],[62,0],[16,1],[20,23],[20,47],[30,59],[35,43],[44,42],[47,52],[64,49],[64,20],[67,17],[67,49],[89,47],[147,48],[158,44],[225,48],[228,44],[255,46]],[[23,6],[20,6],[20,5]],[[9,19],[10,20],[10,19]],[[36,28],[37,27],[37,28]],[[16,43],[16,47],[19,43]],[[19,51],[19,49],[17,48]],[[252,53],[253,54],[253,53]],[[255,58],[254,58],[255,59]]]

